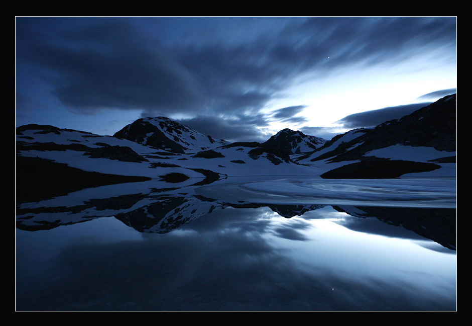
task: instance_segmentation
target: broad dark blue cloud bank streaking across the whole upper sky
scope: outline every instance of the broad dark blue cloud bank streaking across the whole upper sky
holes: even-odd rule
[[[167,47],[169,18],[23,18],[17,54],[48,69],[54,94],[75,110],[228,113],[261,109],[301,72],[401,60],[413,43],[455,45],[455,18],[229,17],[210,20],[219,24],[211,38],[198,33],[205,19],[175,18],[202,38]],[[241,33],[230,29],[240,21]],[[256,24],[264,28],[245,32]]]

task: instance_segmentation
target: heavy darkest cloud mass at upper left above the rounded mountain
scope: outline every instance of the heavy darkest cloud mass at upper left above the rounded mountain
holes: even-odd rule
[[[44,33],[42,42],[20,42],[18,58],[51,71],[54,94],[68,107],[189,110],[203,103],[188,71],[126,22]]]

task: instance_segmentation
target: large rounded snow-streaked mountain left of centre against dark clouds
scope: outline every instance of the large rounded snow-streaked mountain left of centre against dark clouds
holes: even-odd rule
[[[173,153],[194,153],[228,144],[216,141],[166,117],[144,118],[127,125],[113,137],[128,139]]]

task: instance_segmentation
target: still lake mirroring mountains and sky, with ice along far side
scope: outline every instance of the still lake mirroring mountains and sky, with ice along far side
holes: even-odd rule
[[[156,181],[23,204],[16,310],[456,310],[455,180],[398,182],[334,204]]]

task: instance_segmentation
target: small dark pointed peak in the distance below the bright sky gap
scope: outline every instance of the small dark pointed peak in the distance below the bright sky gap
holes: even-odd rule
[[[281,149],[288,154],[312,152],[326,143],[326,139],[305,135],[301,131],[284,129],[269,138],[264,145]]]

